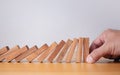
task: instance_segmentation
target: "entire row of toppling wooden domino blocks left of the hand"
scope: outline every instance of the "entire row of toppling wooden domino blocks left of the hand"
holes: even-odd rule
[[[18,45],[9,49],[8,46],[0,49],[1,62],[86,62],[89,54],[89,38],[61,40],[58,44],[53,42],[38,48],[36,45],[29,48],[27,45],[20,48]]]

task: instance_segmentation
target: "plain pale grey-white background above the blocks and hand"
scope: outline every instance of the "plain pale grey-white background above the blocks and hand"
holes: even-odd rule
[[[90,37],[120,29],[120,0],[0,0],[0,47]]]

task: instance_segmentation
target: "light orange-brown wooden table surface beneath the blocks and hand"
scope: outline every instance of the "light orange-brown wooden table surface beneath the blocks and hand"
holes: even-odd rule
[[[120,63],[0,63],[0,75],[120,75]]]

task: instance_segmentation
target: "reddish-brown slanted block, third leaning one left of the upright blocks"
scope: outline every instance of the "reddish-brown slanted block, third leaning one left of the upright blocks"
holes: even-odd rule
[[[50,57],[48,58],[49,62],[52,62],[53,59],[56,57],[56,55],[59,53],[59,51],[62,49],[62,47],[64,46],[65,42],[62,40],[57,46],[56,49],[54,50],[54,52],[50,55]]]

